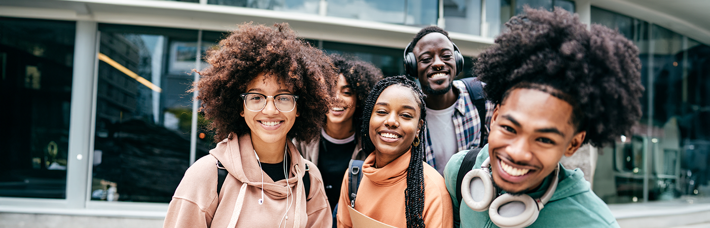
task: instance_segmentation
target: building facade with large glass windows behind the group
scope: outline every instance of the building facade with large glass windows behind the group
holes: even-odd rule
[[[590,150],[596,194],[612,206],[703,202],[710,194],[704,1],[3,0],[0,226],[162,224],[182,174],[215,146],[193,115],[192,70],[207,65],[198,56],[236,24],[288,22],[312,45],[356,55],[386,76],[403,74],[405,46],[437,25],[469,57],[459,77],[471,77],[470,57],[524,5],[579,13],[641,50],[643,119],[616,145]]]

